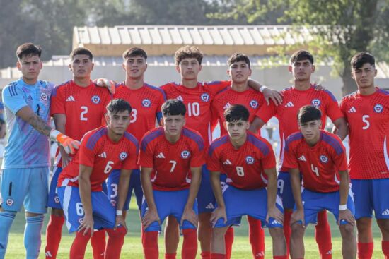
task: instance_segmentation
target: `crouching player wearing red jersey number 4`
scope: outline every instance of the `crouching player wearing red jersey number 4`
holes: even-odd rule
[[[286,139],[284,164],[289,168],[296,200],[291,216],[291,258],[304,258],[306,224],[316,224],[318,212],[323,210],[330,210],[337,219],[343,258],[355,258],[354,202],[349,195],[346,152],[342,140],[320,130],[321,124],[320,109],[304,106],[298,112],[301,132]]]

